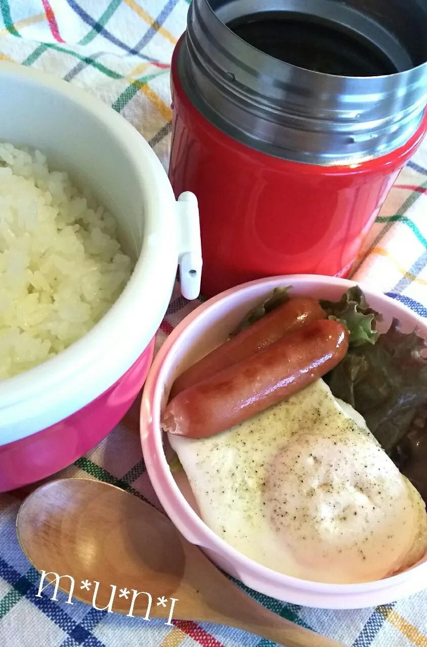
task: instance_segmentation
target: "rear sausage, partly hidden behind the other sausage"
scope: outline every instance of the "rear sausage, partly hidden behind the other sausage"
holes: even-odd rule
[[[246,360],[304,323],[325,318],[325,311],[315,299],[308,296],[290,298],[181,373],[172,385],[170,397],[227,366]]]

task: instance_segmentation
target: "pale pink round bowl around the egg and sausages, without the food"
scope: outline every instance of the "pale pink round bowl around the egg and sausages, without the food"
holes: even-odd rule
[[[292,294],[338,300],[353,281],[327,276],[277,276],[245,283],[203,303],[170,334],[162,345],[146,380],[141,403],[141,443],[154,490],[179,532],[198,545],[209,558],[246,586],[283,602],[327,609],[356,609],[387,604],[417,593],[427,586],[427,555],[419,564],[398,575],[363,584],[319,584],[282,575],[247,558],[225,543],[203,523],[187,478],[173,476],[172,455],[160,427],[161,412],[179,373],[227,339],[248,311],[275,287],[292,285]],[[403,332],[419,328],[427,339],[427,320],[404,305],[361,285],[368,303],[384,316],[378,326],[386,330],[393,317]]]

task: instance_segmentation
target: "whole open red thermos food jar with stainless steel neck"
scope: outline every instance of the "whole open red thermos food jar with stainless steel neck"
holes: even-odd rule
[[[427,3],[193,0],[169,177],[196,193],[202,293],[346,276],[427,129]]]

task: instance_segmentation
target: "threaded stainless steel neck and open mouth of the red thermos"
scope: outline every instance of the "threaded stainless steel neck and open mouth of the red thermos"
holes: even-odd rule
[[[427,0],[359,7],[192,0],[183,89],[214,126],[275,157],[333,165],[386,155],[417,131],[427,104]]]

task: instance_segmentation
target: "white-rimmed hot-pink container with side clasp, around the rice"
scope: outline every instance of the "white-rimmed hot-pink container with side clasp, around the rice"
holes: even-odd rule
[[[0,385],[0,492],[70,465],[120,421],[152,362],[178,265],[196,298],[202,258],[198,207],[178,201],[163,166],[124,118],[53,76],[0,63],[0,141],[40,149],[118,221],[135,263],[110,311],[68,349]]]

